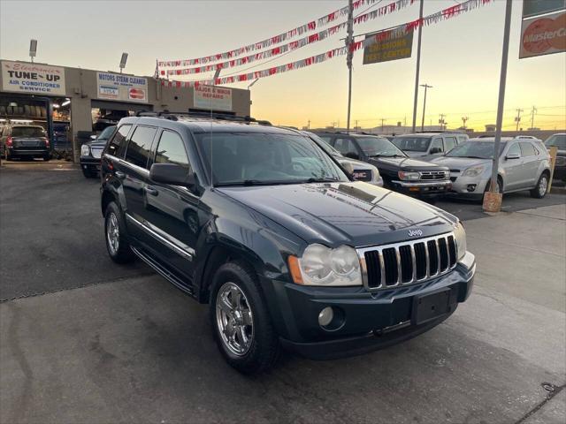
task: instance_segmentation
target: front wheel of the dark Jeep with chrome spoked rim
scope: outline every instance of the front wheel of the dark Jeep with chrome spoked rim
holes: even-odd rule
[[[279,339],[256,272],[243,262],[222,265],[210,290],[210,323],[226,362],[242,374],[260,374],[279,358]]]

